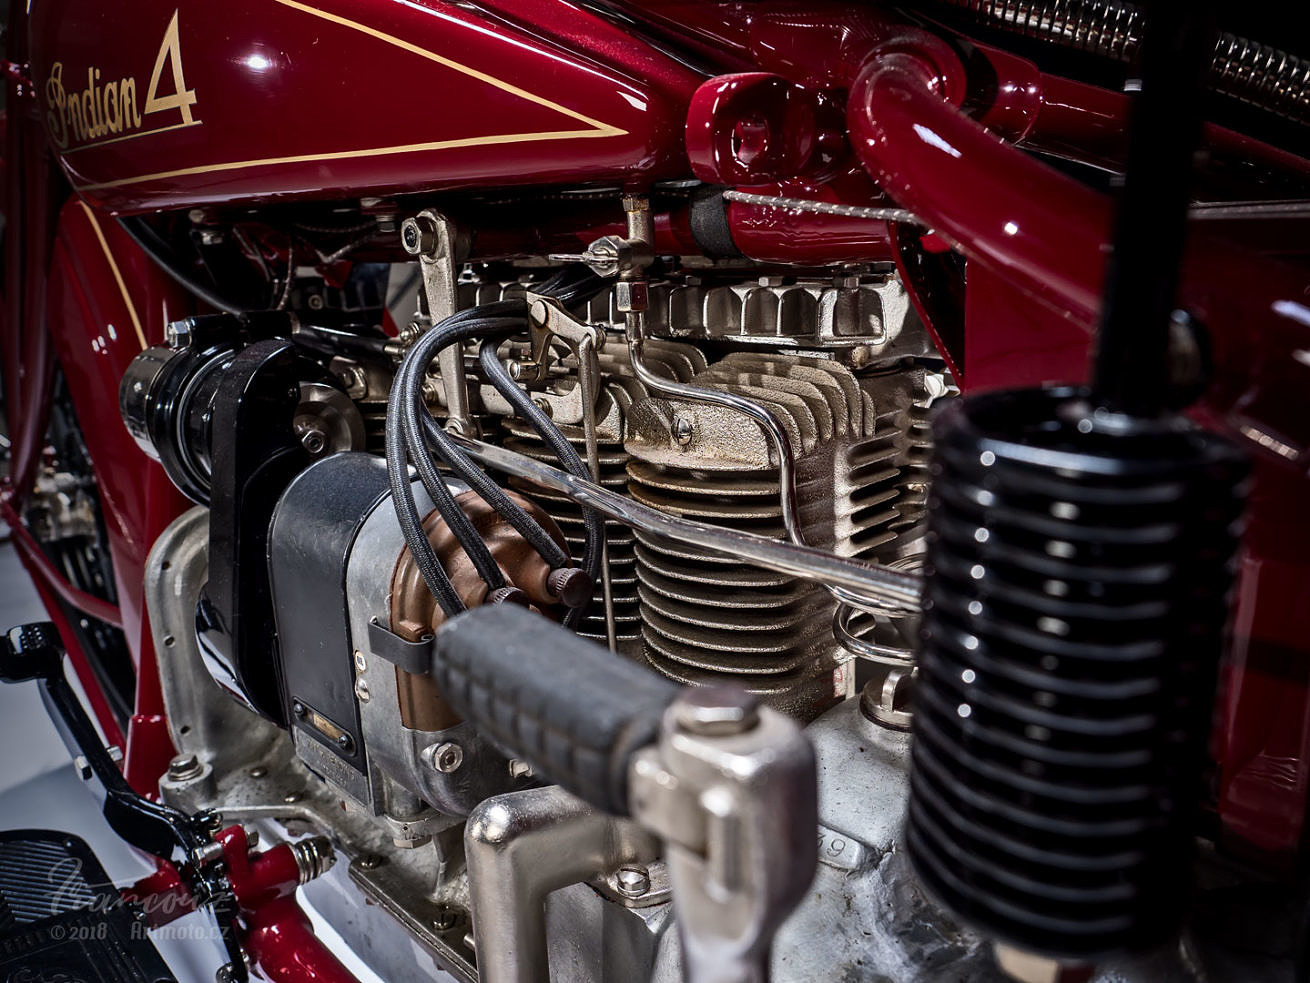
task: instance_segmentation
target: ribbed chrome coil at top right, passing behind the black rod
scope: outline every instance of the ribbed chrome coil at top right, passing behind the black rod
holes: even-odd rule
[[[931,0],[929,5],[1116,62],[1131,62],[1142,37],[1142,9],[1123,0]],[[1224,33],[1214,46],[1210,85],[1288,119],[1310,122],[1310,59]]]

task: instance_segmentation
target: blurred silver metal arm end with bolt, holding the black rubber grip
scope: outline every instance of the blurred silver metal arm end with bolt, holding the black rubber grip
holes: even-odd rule
[[[690,983],[768,979],[817,865],[814,747],[739,689],[683,691],[629,768],[633,818],[667,848]]]

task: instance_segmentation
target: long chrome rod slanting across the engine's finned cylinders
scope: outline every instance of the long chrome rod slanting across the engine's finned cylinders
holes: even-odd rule
[[[924,578],[918,574],[869,566],[812,547],[796,547],[768,536],[683,519],[503,447],[464,436],[452,439],[489,468],[558,492],[633,528],[677,543],[692,543],[789,577],[836,587],[844,594],[874,602],[880,611],[920,609]]]

